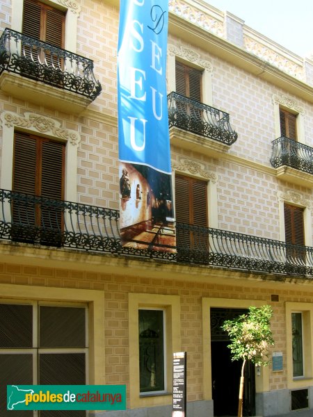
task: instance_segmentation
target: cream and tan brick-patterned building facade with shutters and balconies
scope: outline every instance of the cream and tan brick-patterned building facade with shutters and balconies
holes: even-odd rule
[[[0,416],[6,384],[126,384],[127,411],[95,414],[170,416],[182,351],[188,416],[236,415],[220,325],[264,304],[275,345],[247,367],[245,414],[313,409],[313,61],[202,0],[169,1],[177,254],[127,248],[118,1],[0,10]],[[32,414],[63,415],[16,411]]]

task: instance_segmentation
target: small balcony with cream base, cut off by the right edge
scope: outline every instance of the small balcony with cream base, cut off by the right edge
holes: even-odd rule
[[[281,137],[272,142],[271,165],[280,179],[313,188],[313,148]]]

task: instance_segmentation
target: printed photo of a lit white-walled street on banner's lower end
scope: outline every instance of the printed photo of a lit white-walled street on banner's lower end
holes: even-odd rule
[[[175,252],[171,175],[120,162],[122,245]]]

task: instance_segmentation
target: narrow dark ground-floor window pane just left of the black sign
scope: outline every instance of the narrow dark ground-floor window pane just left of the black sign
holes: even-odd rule
[[[164,311],[138,311],[141,393],[164,391]]]

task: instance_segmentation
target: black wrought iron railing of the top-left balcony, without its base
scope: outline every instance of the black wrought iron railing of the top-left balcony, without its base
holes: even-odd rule
[[[92,60],[8,28],[0,38],[0,74],[4,70],[91,100],[102,90]]]

